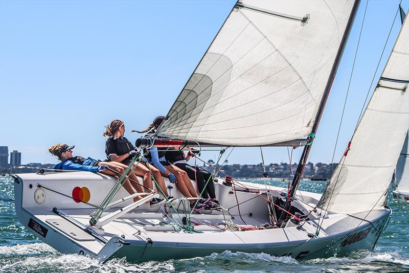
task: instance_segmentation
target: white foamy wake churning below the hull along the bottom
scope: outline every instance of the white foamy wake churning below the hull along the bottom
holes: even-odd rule
[[[129,263],[125,258],[112,259],[100,263],[80,255],[62,255],[44,243],[32,243],[14,246],[0,246],[0,271],[2,272],[228,272],[232,268],[243,271],[292,271],[294,265],[299,270],[319,272],[325,267],[328,272],[360,271],[405,271],[409,268],[409,260],[399,252],[356,252],[347,257],[331,257],[297,261],[291,257],[275,257],[265,253],[242,253],[224,251],[207,257],[192,259],[150,261],[145,263]],[[345,268],[348,268],[347,270]]]

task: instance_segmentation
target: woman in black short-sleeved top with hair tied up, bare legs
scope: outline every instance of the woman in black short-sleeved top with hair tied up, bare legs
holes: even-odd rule
[[[132,145],[132,143],[124,137],[124,133],[125,124],[123,121],[111,121],[111,123],[106,127],[106,131],[104,133],[104,137],[109,136],[105,143],[105,153],[108,160],[129,165],[129,163],[132,161],[133,155],[135,155],[137,152],[135,151],[135,147]],[[140,164],[135,162],[133,167],[134,173],[143,177],[145,187],[153,189],[151,177],[152,173],[156,183],[161,188],[165,197],[170,198],[165,181],[158,169],[146,162],[141,162]],[[171,199],[173,199],[173,197]],[[161,200],[154,199],[151,203],[160,201]]]

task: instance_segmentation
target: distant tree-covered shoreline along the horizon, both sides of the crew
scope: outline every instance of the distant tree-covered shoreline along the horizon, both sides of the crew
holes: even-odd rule
[[[208,164],[215,167],[217,170],[225,173],[226,175],[232,176],[234,178],[262,178],[264,173],[263,164],[228,164],[229,162],[226,161],[224,164],[219,164],[215,166],[213,160],[209,160]],[[212,171],[212,167],[209,167],[206,164],[203,164],[203,167],[209,171]],[[326,164],[326,163],[316,163],[313,164],[308,162],[305,165],[303,178],[313,178],[317,180],[325,180],[329,179],[332,175],[332,172],[335,170],[336,163],[333,164]],[[37,172],[41,168],[52,169],[54,164],[40,164],[40,163],[30,163],[27,165],[21,165],[17,167],[1,167],[0,174],[13,174],[13,173],[32,173]],[[291,164],[292,173],[296,173],[298,164],[293,163]],[[290,172],[290,165],[288,163],[271,163],[269,165],[265,165],[265,170],[268,173],[269,178],[288,178]],[[221,176],[219,173],[218,176]],[[291,175],[292,177],[292,175]]]

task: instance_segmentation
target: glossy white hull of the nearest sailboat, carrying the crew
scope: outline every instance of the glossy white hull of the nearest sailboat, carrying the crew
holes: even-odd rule
[[[126,257],[127,261],[133,262],[192,258],[225,250],[291,256],[296,259],[328,257],[357,249],[373,248],[391,214],[389,209],[382,208],[369,214],[355,214],[353,217],[343,214],[326,215],[320,234],[316,237],[311,237],[316,231],[315,213],[310,215],[310,220],[305,222],[302,230],[289,221],[284,229],[221,231],[215,225],[220,226],[219,223],[225,218],[232,219],[239,225],[244,223],[240,219],[237,206],[235,207],[237,202],[235,194],[232,194],[232,187],[216,183],[217,197],[224,208],[230,208],[231,216],[226,213],[223,216],[221,212],[215,211],[211,215],[193,214],[191,220],[202,223],[195,226],[195,230],[201,233],[176,232],[170,219],[165,219],[161,210],[152,210],[143,204],[100,229],[92,227],[94,234],[90,235],[78,226],[87,225],[89,214],[95,209],[50,191],[57,190],[71,196],[75,187],[87,187],[90,192],[89,203],[99,204],[114,183],[115,180],[111,177],[90,172],[15,176],[16,213],[29,231],[61,253],[89,255],[101,261]],[[34,200],[37,184],[50,189],[44,190],[46,197],[41,204]],[[263,185],[245,184],[248,188],[265,189]],[[286,192],[286,189],[277,187],[269,187],[269,190],[276,195],[280,190]],[[177,197],[178,193],[174,189],[172,191],[171,194]],[[240,205],[241,217],[247,224],[256,226],[268,221],[266,200],[252,192],[237,191],[236,194],[240,203],[248,200]],[[319,194],[302,192],[302,195],[310,205],[316,204],[320,199]],[[127,196],[127,193],[121,189],[115,199],[124,196]],[[122,206],[127,204],[129,202]],[[298,201],[294,201],[294,207],[305,214],[310,209]],[[79,224],[73,224],[57,215],[53,208],[58,208]],[[115,210],[117,209],[111,209],[109,212]],[[169,211],[169,208],[167,210]],[[173,214],[178,222],[182,221],[183,216],[183,212],[179,215]],[[363,221],[362,218],[366,220]]]

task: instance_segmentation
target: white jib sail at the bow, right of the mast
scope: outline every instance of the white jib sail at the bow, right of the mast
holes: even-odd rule
[[[406,17],[374,94],[319,207],[355,213],[382,206],[409,127],[409,20]]]

